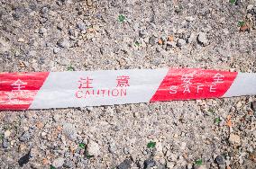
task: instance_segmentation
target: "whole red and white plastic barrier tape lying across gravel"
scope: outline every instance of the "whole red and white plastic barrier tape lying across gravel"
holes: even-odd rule
[[[200,68],[0,73],[0,110],[27,110],[256,94],[256,74]]]

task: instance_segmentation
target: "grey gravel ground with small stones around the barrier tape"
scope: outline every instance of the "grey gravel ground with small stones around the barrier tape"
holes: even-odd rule
[[[0,72],[256,73],[255,30],[255,0],[0,0]],[[255,101],[1,111],[0,168],[256,168]]]

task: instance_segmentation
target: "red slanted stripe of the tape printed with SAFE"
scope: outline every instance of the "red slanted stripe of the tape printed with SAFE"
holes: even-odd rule
[[[200,68],[169,68],[151,102],[221,97],[237,72]]]

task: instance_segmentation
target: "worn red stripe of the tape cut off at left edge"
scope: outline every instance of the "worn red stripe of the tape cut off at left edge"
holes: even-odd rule
[[[0,110],[26,110],[49,72],[0,74]]]

